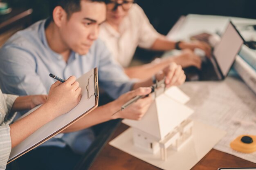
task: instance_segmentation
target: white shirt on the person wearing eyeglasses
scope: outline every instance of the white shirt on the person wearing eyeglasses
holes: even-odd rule
[[[128,67],[137,46],[149,49],[160,34],[150,24],[143,9],[133,4],[116,31],[108,22],[101,25],[99,38],[123,67]]]

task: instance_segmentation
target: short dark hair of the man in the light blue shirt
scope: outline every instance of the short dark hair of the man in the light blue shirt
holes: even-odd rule
[[[109,0],[87,0],[90,2],[103,2],[108,3]],[[67,18],[70,18],[72,13],[78,12],[81,10],[81,0],[49,0],[49,12],[50,18],[53,20],[53,10],[55,7],[61,6],[67,13]]]

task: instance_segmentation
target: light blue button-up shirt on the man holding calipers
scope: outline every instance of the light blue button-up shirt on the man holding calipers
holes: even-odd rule
[[[67,79],[77,78],[92,68],[99,69],[99,85],[113,98],[131,90],[131,81],[112,58],[101,40],[96,40],[86,55],[72,52],[67,63],[62,55],[49,48],[45,22],[39,21],[14,34],[0,49],[0,88],[3,93],[16,95],[47,94],[55,82],[49,73]],[[90,129],[58,136],[44,145],[70,145],[84,152],[93,139]]]

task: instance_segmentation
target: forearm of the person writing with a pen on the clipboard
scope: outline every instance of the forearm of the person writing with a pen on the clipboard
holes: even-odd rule
[[[33,132],[54,119],[54,109],[44,104],[26,117],[10,125],[11,148],[17,146]]]

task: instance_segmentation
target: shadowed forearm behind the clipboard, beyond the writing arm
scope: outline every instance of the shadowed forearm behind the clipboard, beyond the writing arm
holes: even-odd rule
[[[31,109],[32,96],[17,97],[11,108],[12,112]]]

